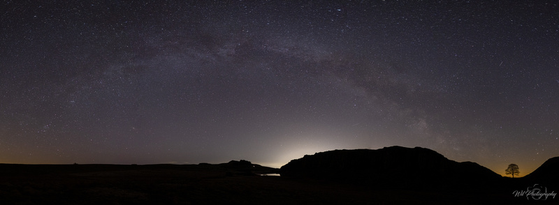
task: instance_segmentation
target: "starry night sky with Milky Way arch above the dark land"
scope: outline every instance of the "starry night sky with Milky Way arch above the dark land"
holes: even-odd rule
[[[0,162],[559,156],[557,1],[2,1]]]

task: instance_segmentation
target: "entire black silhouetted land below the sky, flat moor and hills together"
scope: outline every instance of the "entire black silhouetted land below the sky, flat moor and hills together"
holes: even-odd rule
[[[520,179],[422,148],[327,151],[281,169],[0,164],[0,204],[559,204],[559,158]],[[282,176],[261,176],[277,174]],[[515,194],[516,191],[516,194]]]

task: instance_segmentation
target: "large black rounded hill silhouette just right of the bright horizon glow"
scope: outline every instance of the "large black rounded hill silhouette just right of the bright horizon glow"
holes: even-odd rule
[[[280,168],[291,178],[394,188],[465,188],[498,183],[502,176],[474,162],[455,162],[421,147],[335,150],[305,155]]]

